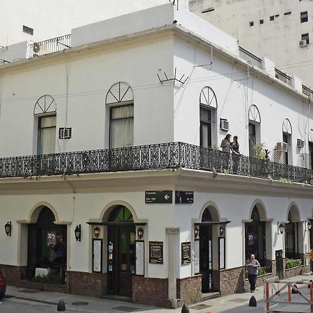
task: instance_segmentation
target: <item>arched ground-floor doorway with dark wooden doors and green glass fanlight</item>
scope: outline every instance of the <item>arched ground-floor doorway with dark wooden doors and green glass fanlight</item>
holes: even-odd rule
[[[108,294],[131,297],[136,264],[136,226],[131,211],[118,205],[108,218]]]

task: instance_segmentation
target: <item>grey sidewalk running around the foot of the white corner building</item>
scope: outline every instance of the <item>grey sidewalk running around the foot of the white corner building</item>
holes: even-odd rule
[[[289,281],[303,281],[309,282],[312,279],[312,275],[300,275],[295,278],[289,279]],[[307,288],[306,284],[303,284],[303,288]],[[88,312],[88,313],[98,313],[98,312],[111,312],[111,313],[125,313],[125,312],[152,312],[152,313],[174,313],[181,312],[182,308],[177,308],[175,310],[170,310],[162,307],[153,307],[150,305],[142,305],[139,303],[131,303],[122,300],[111,300],[108,298],[95,298],[89,296],[77,296],[72,294],[61,294],[57,292],[49,291],[35,291],[31,289],[23,289],[13,286],[7,287],[6,295],[8,298],[5,300],[10,300],[10,296],[15,299],[23,301],[33,301],[34,303],[45,303],[46,305],[51,305],[56,307],[58,301],[63,299],[65,302],[65,308],[67,312]],[[251,296],[255,296],[257,299],[257,307],[249,307],[248,303]],[[211,300],[205,300],[201,303],[196,303],[193,305],[188,305],[190,312],[199,313],[243,313],[243,312],[254,312],[262,313],[264,312],[264,302],[263,302],[263,287],[258,287],[255,293],[245,292],[241,294],[232,294],[230,296],[223,296],[220,298],[215,298]],[[297,308],[297,310],[303,310],[302,308]],[[56,311],[57,312],[57,311]],[[303,310],[302,312],[306,312]],[[310,312],[307,311],[307,312]]]

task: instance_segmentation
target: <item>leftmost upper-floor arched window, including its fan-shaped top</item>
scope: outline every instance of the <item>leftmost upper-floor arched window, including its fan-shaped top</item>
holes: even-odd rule
[[[56,152],[56,102],[51,95],[40,97],[33,108],[38,122],[38,154]]]

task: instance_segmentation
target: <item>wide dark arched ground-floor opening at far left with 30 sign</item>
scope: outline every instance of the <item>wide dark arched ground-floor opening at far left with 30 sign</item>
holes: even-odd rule
[[[38,208],[36,223],[29,224],[27,278],[64,284],[67,262],[67,227],[56,225],[54,213],[48,207]]]

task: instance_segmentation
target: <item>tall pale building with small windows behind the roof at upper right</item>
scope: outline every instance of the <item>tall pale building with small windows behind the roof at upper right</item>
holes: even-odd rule
[[[189,9],[313,87],[313,1],[190,0]]]

